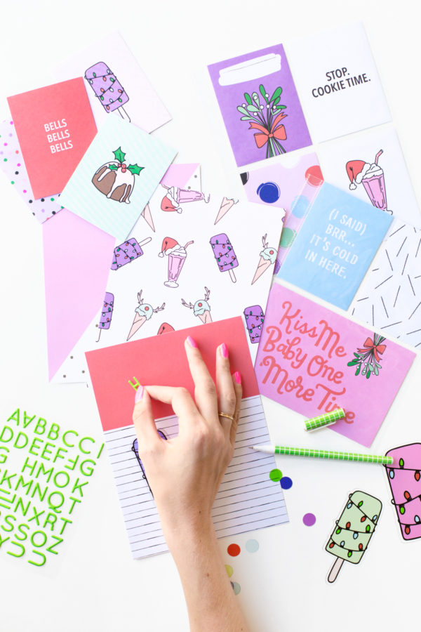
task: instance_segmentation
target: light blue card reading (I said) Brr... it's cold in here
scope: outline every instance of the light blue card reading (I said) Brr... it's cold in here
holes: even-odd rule
[[[323,183],[278,276],[347,310],[392,216]]]

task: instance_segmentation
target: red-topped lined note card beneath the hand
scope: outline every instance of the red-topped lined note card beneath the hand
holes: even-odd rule
[[[134,558],[168,551],[159,515],[147,480],[147,472],[136,453],[137,440],[131,416],[133,384],[183,384],[194,393],[184,352],[184,341],[194,336],[203,358],[215,376],[215,348],[221,340],[231,341],[229,358],[233,370],[241,370],[243,400],[234,456],[222,479],[212,518],[218,537],[234,536],[288,522],[279,481],[270,478],[276,468],[274,456],[258,454],[249,446],[269,442],[265,414],[255,381],[246,334],[240,317],[154,336],[142,341],[87,353],[89,371],[100,412],[105,442]],[[145,357],[148,362],[145,362]],[[174,362],[177,357],[178,361]],[[113,371],[109,371],[112,364]],[[161,437],[178,435],[178,419],[171,407],[152,402],[156,428]]]

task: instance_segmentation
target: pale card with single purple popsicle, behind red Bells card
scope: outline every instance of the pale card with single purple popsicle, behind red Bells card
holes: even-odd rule
[[[171,121],[156,91],[118,32],[93,42],[55,69],[63,81],[83,77],[98,129],[112,114],[147,132]]]

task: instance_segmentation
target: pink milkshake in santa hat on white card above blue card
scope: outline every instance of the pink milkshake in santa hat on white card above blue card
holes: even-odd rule
[[[385,174],[381,166],[377,164],[382,153],[383,150],[377,152],[375,161],[371,164],[363,160],[350,160],[347,162],[347,174],[351,181],[349,188],[354,190],[356,189],[356,185],[362,183],[366,194],[370,198],[371,204],[373,204],[376,209],[386,211],[392,215],[392,211],[387,210]]]

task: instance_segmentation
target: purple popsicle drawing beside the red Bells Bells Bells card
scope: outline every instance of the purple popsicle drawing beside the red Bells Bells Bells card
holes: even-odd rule
[[[123,108],[123,105],[128,102],[127,93],[107,64],[98,62],[88,68],[85,79],[100,100],[105,112],[118,110],[121,118],[126,118],[130,122],[131,119]]]

